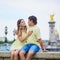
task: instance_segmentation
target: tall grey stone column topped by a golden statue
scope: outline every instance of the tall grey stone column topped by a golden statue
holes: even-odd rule
[[[55,21],[54,21],[54,14],[50,15],[50,21],[49,23],[49,45],[51,46],[56,46],[56,40],[55,40],[55,33],[54,33],[54,28],[55,28]]]

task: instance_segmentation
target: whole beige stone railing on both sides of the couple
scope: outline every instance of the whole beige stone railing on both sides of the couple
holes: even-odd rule
[[[0,60],[10,60],[10,51],[0,51]],[[60,60],[60,52],[38,52],[32,60]]]

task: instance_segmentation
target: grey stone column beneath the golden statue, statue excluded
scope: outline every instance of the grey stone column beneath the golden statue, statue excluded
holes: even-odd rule
[[[55,34],[54,34],[54,27],[55,22],[48,22],[49,23],[49,45],[55,45]]]

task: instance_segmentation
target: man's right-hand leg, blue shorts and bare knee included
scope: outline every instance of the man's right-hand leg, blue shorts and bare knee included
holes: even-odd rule
[[[37,45],[33,44],[28,52],[26,60],[32,60],[33,55],[37,53],[39,50],[40,48]]]

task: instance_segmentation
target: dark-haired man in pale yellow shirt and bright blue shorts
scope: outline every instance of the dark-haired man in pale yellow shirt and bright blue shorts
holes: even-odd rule
[[[32,31],[32,34],[27,38],[27,44],[23,46],[19,53],[20,60],[31,60],[32,56],[40,50],[40,46],[44,51],[43,43],[40,37],[40,29],[37,26],[37,18],[35,16],[28,17],[27,32],[29,31]],[[28,54],[25,58],[25,54],[27,52]]]

